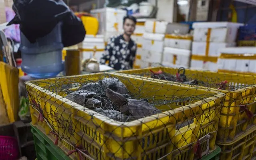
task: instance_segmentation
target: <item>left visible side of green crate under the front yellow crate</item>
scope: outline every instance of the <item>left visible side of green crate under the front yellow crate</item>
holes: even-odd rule
[[[31,131],[34,136],[37,160],[71,160],[65,152],[54,145],[52,140],[36,127],[32,126]]]

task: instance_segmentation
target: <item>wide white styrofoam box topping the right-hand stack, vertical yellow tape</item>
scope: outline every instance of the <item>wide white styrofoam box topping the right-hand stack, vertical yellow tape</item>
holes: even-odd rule
[[[208,28],[212,28],[210,42],[232,43],[236,41],[240,23],[232,22],[196,22],[193,23],[194,41],[207,41]]]

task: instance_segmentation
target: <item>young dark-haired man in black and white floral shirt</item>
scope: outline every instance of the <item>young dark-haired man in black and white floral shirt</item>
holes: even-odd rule
[[[135,30],[136,19],[132,16],[123,18],[124,34],[109,39],[105,53],[101,58],[101,64],[109,61],[109,66],[115,70],[127,70],[133,68],[137,45],[131,40]]]

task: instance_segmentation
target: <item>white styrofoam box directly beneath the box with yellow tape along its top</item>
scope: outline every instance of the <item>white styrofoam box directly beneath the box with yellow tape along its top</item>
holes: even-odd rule
[[[164,47],[163,62],[173,64],[173,58],[176,56],[176,62],[173,65],[189,67],[191,51],[188,49],[177,49]]]

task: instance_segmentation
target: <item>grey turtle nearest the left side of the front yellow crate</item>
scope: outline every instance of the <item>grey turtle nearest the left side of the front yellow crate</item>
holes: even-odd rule
[[[95,109],[97,107],[102,106],[101,97],[97,96],[95,92],[87,91],[87,90],[79,90],[73,93],[70,93],[65,98],[79,104],[85,106],[89,109]]]

